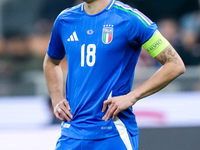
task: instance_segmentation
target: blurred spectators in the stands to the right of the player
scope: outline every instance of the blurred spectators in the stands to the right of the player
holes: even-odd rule
[[[162,35],[173,45],[186,66],[200,65],[200,10],[183,14],[179,20],[162,18],[157,22]],[[157,63],[143,50],[141,66]]]

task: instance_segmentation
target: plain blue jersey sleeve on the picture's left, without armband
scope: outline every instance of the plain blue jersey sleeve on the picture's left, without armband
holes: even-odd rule
[[[61,60],[65,56],[65,49],[63,46],[63,42],[61,40],[61,34],[60,34],[60,26],[59,24],[61,23],[59,17],[56,19],[54,22],[49,46],[47,49],[47,54],[49,57],[53,59],[58,59]]]

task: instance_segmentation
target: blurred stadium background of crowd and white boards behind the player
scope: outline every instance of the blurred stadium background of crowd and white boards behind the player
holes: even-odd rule
[[[200,149],[200,0],[121,0],[157,23],[186,73],[134,106],[140,150]],[[56,16],[81,0],[0,0],[0,149],[50,150],[60,136],[42,70]],[[64,75],[66,61],[62,61]],[[133,88],[160,67],[142,50]]]

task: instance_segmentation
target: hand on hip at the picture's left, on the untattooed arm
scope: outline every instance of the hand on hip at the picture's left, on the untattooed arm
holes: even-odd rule
[[[63,99],[54,107],[54,114],[61,121],[71,121],[73,116],[70,109],[68,101]]]

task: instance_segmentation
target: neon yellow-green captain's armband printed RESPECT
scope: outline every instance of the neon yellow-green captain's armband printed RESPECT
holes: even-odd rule
[[[152,57],[156,57],[168,45],[169,42],[161,35],[159,31],[156,31],[154,35],[142,46]]]

